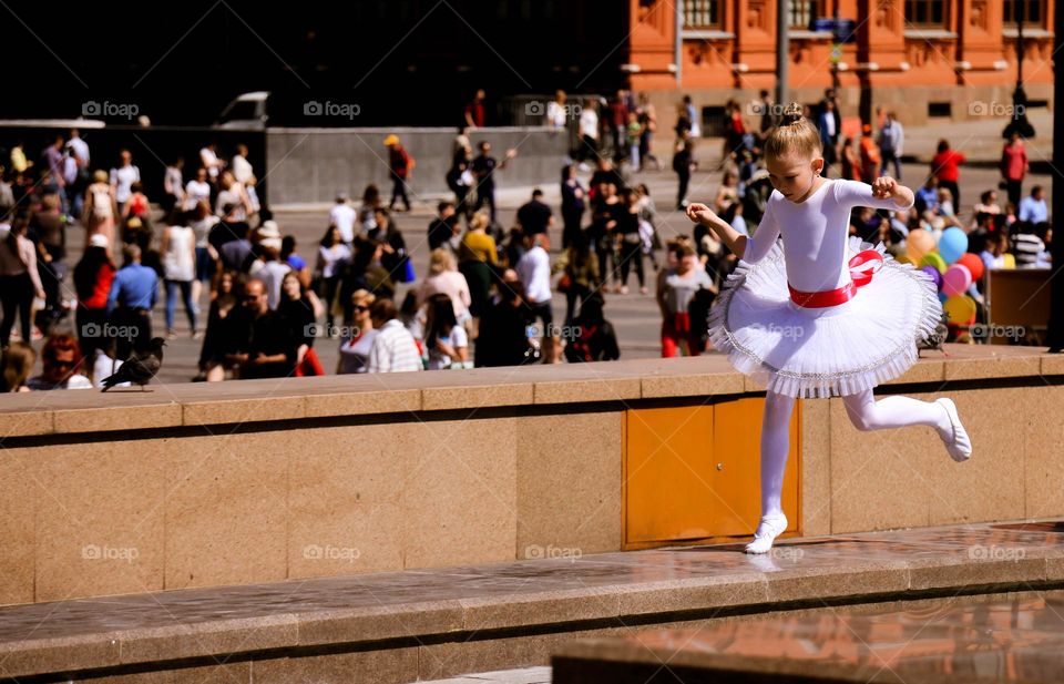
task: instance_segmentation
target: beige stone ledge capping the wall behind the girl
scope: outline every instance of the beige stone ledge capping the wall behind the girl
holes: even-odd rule
[[[887,385],[937,384],[1064,375],[1064,355],[1040,347],[947,345],[924,351],[904,376]],[[1036,380],[1035,380],[1036,379]],[[326,376],[239,382],[151,386],[151,391],[28,392],[0,396],[0,442],[6,438],[136,429],[260,423],[276,420],[376,416],[589,401],[632,401],[764,391],[719,354],[474,368],[392,375]]]

